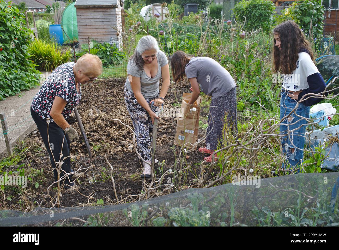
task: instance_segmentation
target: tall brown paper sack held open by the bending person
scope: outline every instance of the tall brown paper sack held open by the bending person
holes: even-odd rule
[[[174,145],[196,150],[196,146],[193,147],[193,144],[198,141],[201,96],[198,97],[193,106],[190,106],[188,102],[191,96],[192,93],[183,93],[182,95]],[[191,111],[192,108],[197,110]]]

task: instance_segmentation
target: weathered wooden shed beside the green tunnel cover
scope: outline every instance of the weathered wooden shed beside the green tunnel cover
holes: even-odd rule
[[[76,0],[78,38],[121,44],[122,0]],[[115,27],[116,30],[112,27]],[[120,48],[120,46],[119,46]]]

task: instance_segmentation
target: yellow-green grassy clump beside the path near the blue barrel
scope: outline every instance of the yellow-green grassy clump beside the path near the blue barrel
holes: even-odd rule
[[[61,51],[56,43],[48,43],[40,39],[35,39],[28,51],[31,54],[31,60],[39,66],[39,70],[45,71],[54,70],[71,58],[69,49]]]

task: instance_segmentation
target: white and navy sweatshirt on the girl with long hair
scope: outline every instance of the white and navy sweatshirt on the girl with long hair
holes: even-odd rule
[[[283,88],[289,91],[299,91],[298,101],[303,97],[303,95],[308,93],[319,94],[323,92],[326,88],[326,83],[320,75],[317,66],[313,63],[309,52],[306,49],[302,49],[299,52],[299,58],[297,60],[297,68],[292,72],[292,74],[286,74],[282,76],[283,79]],[[328,93],[325,93],[327,96]],[[305,97],[308,98],[311,95]],[[323,98],[308,98],[303,100],[302,103],[305,106],[312,106],[322,101]]]

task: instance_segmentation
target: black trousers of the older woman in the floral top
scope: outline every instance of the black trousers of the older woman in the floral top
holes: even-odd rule
[[[73,170],[71,170],[71,158],[69,157],[70,141],[69,141],[68,135],[67,134],[65,135],[65,132],[55,122],[52,122],[52,121],[49,122],[48,135],[47,135],[46,120],[42,119],[37,113],[35,113],[32,107],[31,107],[31,115],[33,117],[33,120],[37,124],[42,140],[49,153],[49,158],[51,159],[54,178],[57,181],[58,171],[57,171],[56,163],[63,161],[63,164],[61,165],[60,178],[62,178],[65,175],[65,173],[73,172]],[[62,153],[62,156],[60,156],[60,153]],[[64,180],[64,183],[69,186],[74,185],[74,182],[70,175],[66,177],[66,179]],[[67,186],[65,188],[67,188]]]

